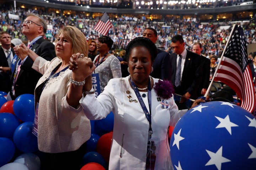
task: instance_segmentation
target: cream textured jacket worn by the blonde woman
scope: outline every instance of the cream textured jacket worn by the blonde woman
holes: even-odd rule
[[[37,57],[34,61],[32,68],[43,74],[36,86],[36,101],[38,86],[61,62],[62,60],[57,57],[50,62],[42,57]],[[73,108],[66,101],[71,74],[72,71],[66,69],[58,77],[50,79],[40,97],[37,141],[42,152],[75,151],[91,137],[90,120],[84,115],[82,107]]]

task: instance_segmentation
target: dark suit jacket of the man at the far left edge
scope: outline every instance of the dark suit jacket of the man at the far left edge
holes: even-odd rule
[[[12,51],[12,55],[14,56],[15,53],[14,53],[14,50],[12,48],[11,48],[11,51]],[[5,56],[5,52],[4,52],[4,50],[2,49],[1,46],[0,46],[0,66],[9,67],[8,61],[7,61],[6,56]],[[9,92],[9,90],[10,90],[10,78],[11,78],[11,72],[9,72],[9,73],[1,72],[0,73],[0,91],[4,91],[6,93]]]

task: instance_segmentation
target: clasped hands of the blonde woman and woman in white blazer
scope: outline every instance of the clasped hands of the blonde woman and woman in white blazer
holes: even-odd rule
[[[69,69],[72,70],[72,78],[75,81],[85,80],[94,72],[95,68],[91,58],[84,57],[83,54],[76,53],[70,57]]]

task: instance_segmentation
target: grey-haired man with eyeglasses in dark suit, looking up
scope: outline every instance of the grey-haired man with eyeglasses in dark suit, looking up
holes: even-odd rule
[[[22,33],[28,39],[28,48],[50,61],[56,54],[54,44],[43,38],[46,30],[46,22],[34,14],[29,14],[22,24]],[[33,61],[29,56],[23,60],[18,58],[11,76],[10,97],[12,100],[15,100],[15,98],[22,94],[34,94],[34,89],[42,74],[32,69],[32,65]]]

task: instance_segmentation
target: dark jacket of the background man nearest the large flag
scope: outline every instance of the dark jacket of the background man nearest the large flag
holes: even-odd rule
[[[201,95],[202,89],[208,89],[209,79],[210,79],[210,60],[204,56],[201,57],[201,67],[202,67],[202,83],[199,84],[198,96]]]

